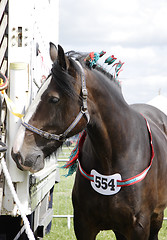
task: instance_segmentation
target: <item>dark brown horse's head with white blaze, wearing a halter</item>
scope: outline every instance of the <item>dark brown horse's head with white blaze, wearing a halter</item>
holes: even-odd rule
[[[88,119],[81,65],[67,57],[61,46],[57,50],[52,43],[50,57],[51,74],[29,107],[12,148],[12,157],[21,170],[41,170],[44,158],[67,137],[80,132]]]

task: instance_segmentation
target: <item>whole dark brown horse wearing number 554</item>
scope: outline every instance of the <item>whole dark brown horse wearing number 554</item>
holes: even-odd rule
[[[82,132],[72,191],[74,231],[93,240],[157,240],[167,206],[167,116],[129,105],[115,78],[81,53],[50,43],[51,73],[12,148],[21,170],[37,172],[65,139]],[[81,144],[82,143],[82,144]]]

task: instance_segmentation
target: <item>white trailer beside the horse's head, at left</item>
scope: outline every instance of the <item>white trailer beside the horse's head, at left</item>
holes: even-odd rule
[[[24,114],[38,88],[49,74],[49,41],[58,43],[59,0],[0,1],[0,72],[9,79],[7,95]],[[2,156],[13,185],[36,236],[43,237],[52,220],[52,193],[59,181],[56,157],[45,159],[38,173],[20,171],[11,158],[11,147],[21,121],[7,110],[1,99],[0,141]],[[1,164],[0,164],[1,165]],[[19,209],[0,166],[0,239],[27,239]],[[20,236],[19,236],[20,234]]]

